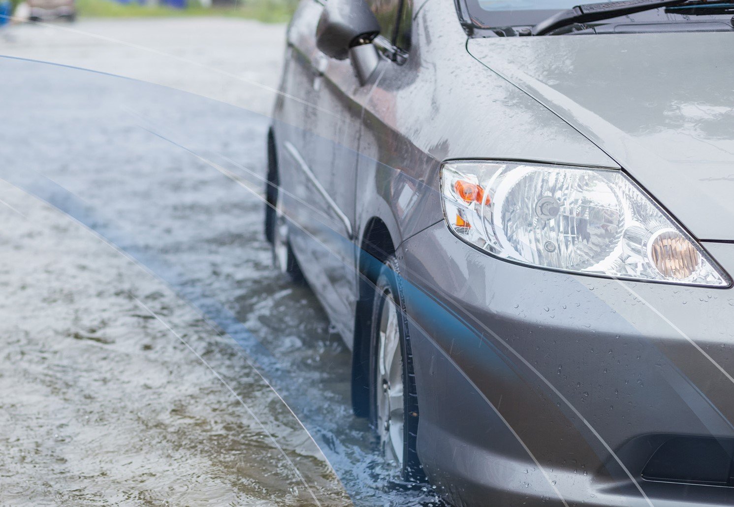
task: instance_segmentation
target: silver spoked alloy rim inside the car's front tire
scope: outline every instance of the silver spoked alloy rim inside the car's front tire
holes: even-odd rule
[[[377,431],[382,453],[403,464],[404,391],[403,353],[398,309],[389,292],[382,300],[377,356]]]

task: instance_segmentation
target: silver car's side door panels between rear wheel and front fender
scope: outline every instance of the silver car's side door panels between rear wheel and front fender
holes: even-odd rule
[[[361,87],[349,61],[316,48],[320,0],[302,0],[288,28],[286,69],[276,107],[280,188],[291,246],[332,323],[351,337],[355,158]],[[352,325],[353,326],[353,325]]]

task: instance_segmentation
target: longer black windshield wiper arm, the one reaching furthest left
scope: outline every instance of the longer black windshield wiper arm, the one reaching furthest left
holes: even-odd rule
[[[590,23],[603,19],[617,18],[643,10],[657,9],[669,5],[685,4],[688,0],[624,0],[604,1],[600,4],[577,5],[558,12],[533,26],[532,35],[545,35],[548,32],[576,23]]]

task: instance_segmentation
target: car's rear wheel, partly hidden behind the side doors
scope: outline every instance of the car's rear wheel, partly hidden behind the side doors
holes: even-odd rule
[[[283,192],[280,189],[275,159],[275,143],[268,136],[268,183],[265,204],[265,237],[270,242],[273,265],[286,273],[291,281],[302,284],[305,280],[301,267],[288,238],[288,217],[283,209]]]

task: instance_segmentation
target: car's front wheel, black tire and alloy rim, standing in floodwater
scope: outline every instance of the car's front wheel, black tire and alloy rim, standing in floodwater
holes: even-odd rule
[[[370,320],[370,418],[379,448],[406,481],[423,479],[418,453],[418,395],[396,259],[382,266]]]

